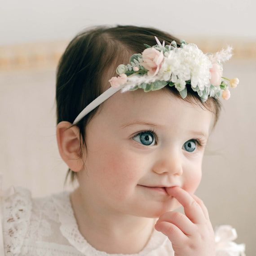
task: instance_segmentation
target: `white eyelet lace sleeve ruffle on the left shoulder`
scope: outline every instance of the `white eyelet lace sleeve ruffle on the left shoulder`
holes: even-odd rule
[[[2,192],[1,207],[5,256],[18,256],[30,223],[31,192],[11,187]]]

